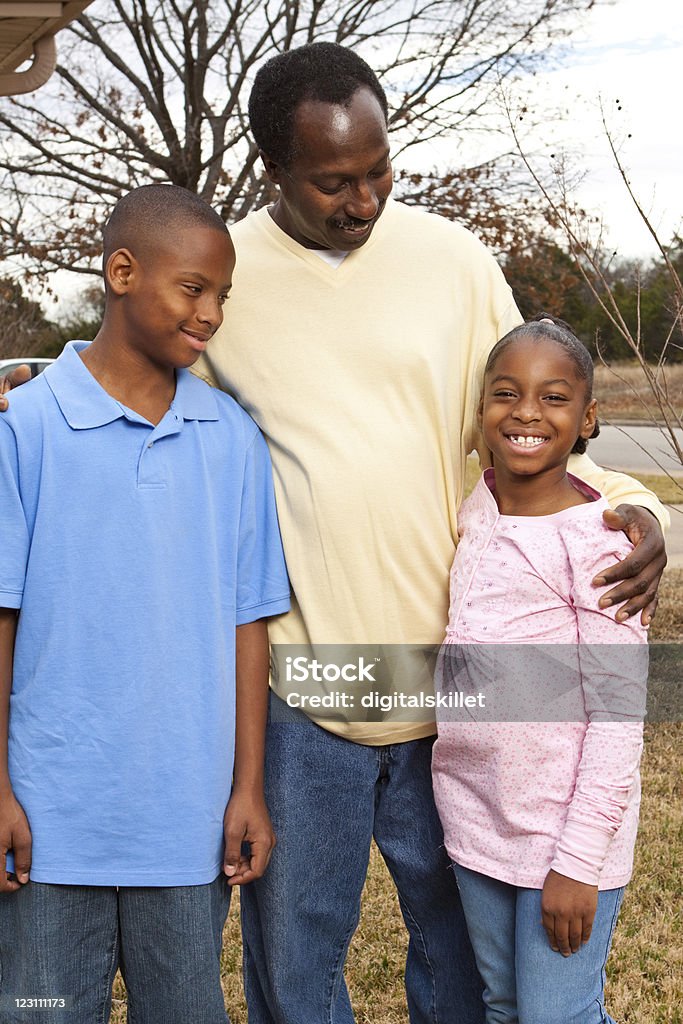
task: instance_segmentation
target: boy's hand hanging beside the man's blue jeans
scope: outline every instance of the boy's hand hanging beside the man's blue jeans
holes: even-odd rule
[[[254,879],[260,879],[268,866],[275,835],[270,824],[270,815],[262,795],[242,794],[232,790],[223,819],[225,835],[225,859],[223,870],[228,885],[243,886]],[[247,857],[242,852],[242,844],[248,843],[251,850]]]

